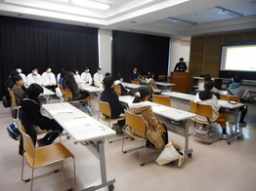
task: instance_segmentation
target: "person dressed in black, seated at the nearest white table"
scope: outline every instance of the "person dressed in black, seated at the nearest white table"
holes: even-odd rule
[[[38,102],[38,97],[43,94],[44,90],[38,84],[31,84],[25,91],[25,98],[21,101],[22,111],[28,116],[29,123],[33,126],[38,126],[45,131],[58,131],[60,134],[64,129],[54,120],[49,119],[41,114],[41,106]],[[59,133],[46,134],[43,138],[38,140],[39,146],[51,144]]]

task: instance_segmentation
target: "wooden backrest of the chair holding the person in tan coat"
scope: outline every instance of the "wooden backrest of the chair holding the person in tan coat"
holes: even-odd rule
[[[125,125],[145,134],[145,120],[142,115],[131,113],[130,111],[124,110],[125,112]]]

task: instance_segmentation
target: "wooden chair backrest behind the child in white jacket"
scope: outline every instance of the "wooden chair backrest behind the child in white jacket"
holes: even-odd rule
[[[212,106],[191,101],[191,112],[207,118],[212,118]]]

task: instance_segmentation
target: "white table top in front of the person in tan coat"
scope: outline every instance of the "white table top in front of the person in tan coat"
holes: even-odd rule
[[[133,99],[134,99],[133,96],[119,96],[119,100],[127,104],[132,103]],[[158,115],[166,119],[170,119],[174,121],[182,121],[182,120],[187,120],[196,116],[191,112],[164,106],[164,105],[157,104],[150,101],[147,101],[147,102],[149,103],[149,105],[151,105],[152,112],[154,115]]]

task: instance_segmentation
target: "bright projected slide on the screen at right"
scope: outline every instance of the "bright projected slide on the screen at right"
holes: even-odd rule
[[[256,45],[223,47],[221,70],[256,71]]]

